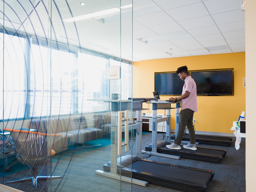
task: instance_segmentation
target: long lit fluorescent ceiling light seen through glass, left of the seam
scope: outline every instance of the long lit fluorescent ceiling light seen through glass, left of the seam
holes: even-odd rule
[[[108,15],[108,14],[111,14],[111,13],[117,13],[119,11],[120,11],[120,9],[115,7],[113,9],[107,9],[107,10],[104,10],[104,11],[98,11],[98,12],[95,12],[95,13],[89,13],[89,14],[86,14],[86,15],[78,16],[78,17],[64,19],[63,21],[65,21],[65,22],[80,21],[80,20],[83,20],[83,19],[89,19],[89,18],[93,18],[93,17],[99,17],[99,16],[102,16],[102,15]]]

